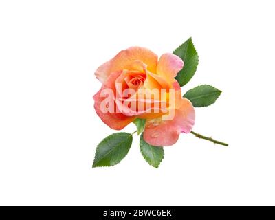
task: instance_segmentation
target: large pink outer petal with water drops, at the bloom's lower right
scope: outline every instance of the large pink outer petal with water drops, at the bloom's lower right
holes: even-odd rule
[[[171,146],[175,144],[179,138],[179,134],[189,133],[195,122],[195,110],[191,102],[181,99],[181,107],[175,109],[175,117],[173,120],[148,122],[144,130],[144,140],[153,146]]]

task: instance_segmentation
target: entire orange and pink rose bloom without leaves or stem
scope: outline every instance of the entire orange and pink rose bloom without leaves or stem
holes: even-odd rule
[[[195,122],[195,110],[182,98],[175,80],[183,66],[174,54],[163,54],[158,60],[143,47],[123,50],[96,70],[102,83],[94,96],[96,113],[115,130],[145,118],[143,137],[148,144],[175,144],[179,134],[189,133]]]

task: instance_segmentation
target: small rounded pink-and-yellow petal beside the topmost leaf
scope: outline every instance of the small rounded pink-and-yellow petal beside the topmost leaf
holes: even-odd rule
[[[157,74],[170,81],[184,67],[184,61],[174,54],[163,54],[157,63]]]

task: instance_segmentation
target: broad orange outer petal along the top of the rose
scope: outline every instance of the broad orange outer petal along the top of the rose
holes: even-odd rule
[[[131,69],[133,61],[139,60],[147,65],[151,72],[156,72],[157,55],[144,47],[130,47],[127,50],[122,50],[107,63],[104,63],[96,70],[96,77],[100,82],[104,83],[112,72],[122,69]]]

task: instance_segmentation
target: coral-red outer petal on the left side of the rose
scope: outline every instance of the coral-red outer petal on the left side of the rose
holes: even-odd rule
[[[114,113],[110,113],[109,111],[107,113],[103,113],[100,109],[100,104],[102,100],[105,99],[105,97],[100,96],[102,89],[112,89],[115,95],[115,79],[118,78],[120,74],[121,72],[113,72],[107,79],[106,83],[102,86],[100,91],[98,91],[93,97],[95,102],[94,108],[96,109],[96,113],[98,114],[102,122],[107,124],[111,129],[115,130],[121,130],[125,126],[133,122],[133,120],[135,120],[134,117],[128,117],[122,113],[117,113],[116,111]]]

